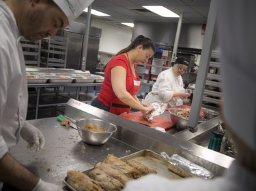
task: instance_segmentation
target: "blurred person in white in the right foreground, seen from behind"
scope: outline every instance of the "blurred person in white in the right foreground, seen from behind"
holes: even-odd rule
[[[218,0],[217,28],[221,46],[223,117],[238,156],[223,177],[169,180],[148,175],[128,182],[134,190],[255,190],[256,188],[256,1]]]

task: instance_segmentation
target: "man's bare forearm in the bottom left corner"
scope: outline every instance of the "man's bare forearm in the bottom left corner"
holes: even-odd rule
[[[39,178],[19,164],[10,154],[0,159],[0,181],[20,190],[33,190]]]

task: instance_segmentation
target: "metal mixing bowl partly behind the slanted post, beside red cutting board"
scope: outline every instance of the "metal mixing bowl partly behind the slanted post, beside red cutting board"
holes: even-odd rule
[[[171,114],[171,121],[173,122],[173,124],[175,124],[175,126],[177,128],[188,128],[188,120],[184,119],[184,118],[180,118],[179,116],[177,116],[177,112],[179,111],[183,111],[183,109],[169,109],[169,113]],[[199,116],[199,122],[204,122],[205,118]]]

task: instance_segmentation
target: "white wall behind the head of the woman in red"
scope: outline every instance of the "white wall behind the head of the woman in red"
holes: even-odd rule
[[[86,23],[86,18],[80,16],[76,22]],[[121,29],[98,20],[91,20],[91,27],[102,29],[99,52],[116,54],[131,43],[132,31]]]

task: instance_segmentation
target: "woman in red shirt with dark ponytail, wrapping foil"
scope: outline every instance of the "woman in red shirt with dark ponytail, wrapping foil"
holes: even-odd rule
[[[136,63],[147,62],[153,56],[155,46],[151,39],[139,35],[132,43],[120,50],[106,65],[100,94],[91,105],[120,115],[130,108],[145,113],[152,111],[147,103],[141,103],[137,92],[141,86]]]

